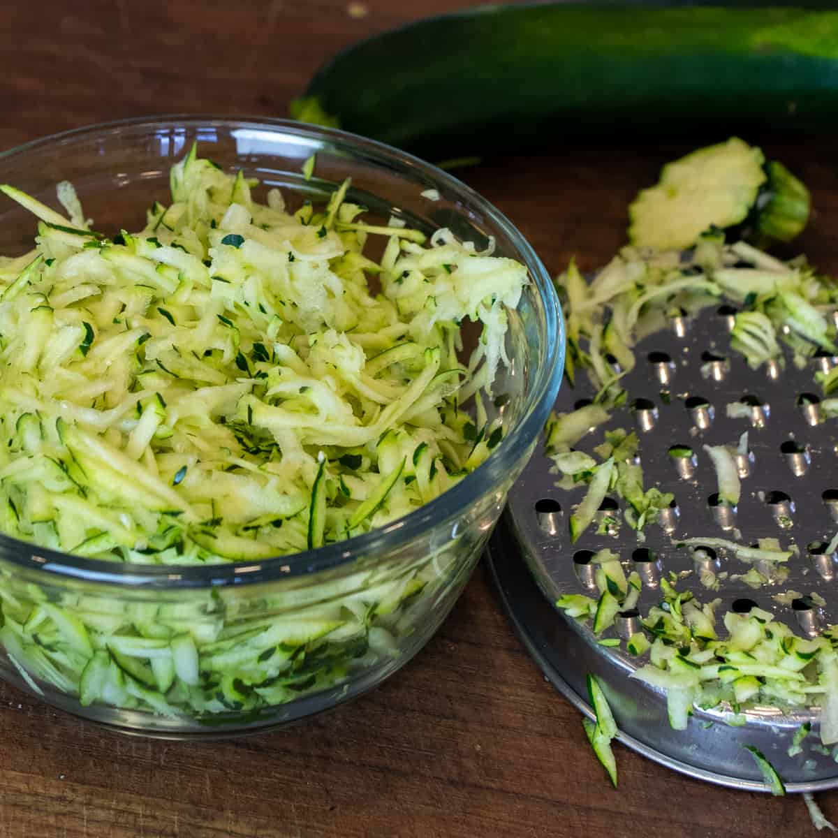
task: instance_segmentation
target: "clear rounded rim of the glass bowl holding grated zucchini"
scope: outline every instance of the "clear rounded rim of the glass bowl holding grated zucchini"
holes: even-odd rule
[[[277,556],[252,562],[230,562],[211,565],[131,565],[104,559],[87,559],[80,556],[49,550],[26,541],[19,541],[0,534],[0,560],[55,577],[75,577],[89,582],[100,582],[116,586],[172,588],[202,588],[208,586],[248,585],[257,582],[288,580],[329,570],[348,564],[363,556],[392,551],[431,531],[436,522],[461,515],[486,491],[490,472],[504,473],[525,455],[530,444],[541,432],[547,420],[561,384],[564,368],[565,345],[561,303],[550,274],[535,254],[530,243],[503,213],[463,184],[458,178],[437,168],[432,163],[402,152],[383,142],[370,140],[336,128],[313,127],[303,122],[278,119],[267,116],[216,116],[213,114],[162,114],[159,116],[137,116],[113,122],[99,122],[93,125],[73,128],[69,131],[39,137],[7,151],[0,152],[0,162],[8,163],[10,158],[25,156],[50,145],[59,147],[66,141],[80,141],[105,137],[117,132],[153,132],[166,128],[199,129],[215,127],[227,130],[237,128],[258,129],[286,133],[312,142],[325,141],[349,147],[355,152],[365,153],[367,159],[376,163],[389,163],[405,172],[421,175],[429,185],[444,186],[450,193],[457,194],[498,230],[509,236],[518,251],[518,256],[530,272],[530,279],[538,289],[546,318],[546,345],[544,355],[535,360],[535,385],[525,401],[520,421],[509,436],[472,473],[468,474],[452,489],[447,489],[437,498],[402,518],[376,530],[355,535],[345,541],[318,547],[314,550],[295,553],[292,556]],[[58,580],[56,579],[56,582]]]

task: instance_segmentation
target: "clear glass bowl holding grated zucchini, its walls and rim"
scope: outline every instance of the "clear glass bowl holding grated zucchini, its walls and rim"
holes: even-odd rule
[[[143,118],[0,154],[0,183],[54,204],[55,184],[70,180],[97,229],[141,229],[144,208],[167,199],[168,170],[195,140],[202,156],[300,203],[322,199],[350,176],[350,198],[374,216],[399,215],[426,231],[445,226],[478,249],[492,236],[496,252],[525,263],[532,282],[510,313],[510,365],[494,385],[503,397],[488,406],[490,418],[502,418],[503,441],[453,489],[379,530],[290,557],[208,566],[91,560],[0,535],[0,676],[76,715],[159,737],[226,736],[295,721],[358,696],[422,649],[530,458],[564,360],[556,293],[518,230],[456,178],[377,142],[281,120]],[[307,180],[303,162],[315,153],[317,175]],[[428,189],[437,200],[422,195]],[[33,235],[32,216],[3,200],[0,253],[27,251]],[[44,623],[67,643],[56,649],[45,640]],[[199,653],[197,683],[165,689],[168,660],[184,636]],[[139,667],[137,637],[158,641]],[[91,644],[105,638],[118,654],[107,688],[86,701],[85,674],[77,673]]]

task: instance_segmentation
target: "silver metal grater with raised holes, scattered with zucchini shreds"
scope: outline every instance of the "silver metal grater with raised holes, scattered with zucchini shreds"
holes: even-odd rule
[[[620,738],[629,747],[701,779],[767,790],[742,747],[753,745],[777,769],[789,791],[826,789],[838,785],[838,763],[832,753],[820,753],[817,708],[791,714],[758,706],[747,711],[744,725],[732,727],[726,723],[733,716],[729,708],[696,707],[685,731],[672,730],[664,693],[629,679],[648,655],[637,659],[624,649],[598,644],[589,624],[567,618],[551,605],[564,593],[597,596],[592,566],[586,560],[592,552],[610,547],[627,574],[637,570],[643,579],[641,615],[660,601],[660,577],[674,572],[682,575],[678,590],[691,590],[699,602],[722,598],[717,623],[727,610],[745,611],[752,603],[803,636],[838,623],[834,596],[838,558],[825,550],[838,530],[838,424],[822,416],[820,388],[814,379],[816,370],[829,370],[838,358],[817,354],[799,370],[787,353],[785,365],[750,370],[728,346],[733,313],[722,306],[706,308],[693,318],[675,317],[666,331],[640,342],[634,348],[637,365],[623,379],[629,394],[626,406],[615,408],[607,426],[576,446],[592,453],[603,441],[606,427],[636,430],[644,485],[673,492],[677,504],[665,512],[660,525],[646,527],[646,540],[638,541],[623,522],[608,535],[596,535],[591,526],[572,545],[568,520],[586,489],[557,489],[561,475],[551,473],[553,463],[539,447],[510,492],[505,526],[494,536],[489,563],[510,616],[546,675],[588,716],[592,711],[587,706],[585,677],[589,672],[598,675]],[[581,400],[592,398],[591,385],[584,378],[584,373],[577,376],[576,389],[562,386],[557,411],[572,411]],[[727,404],[735,401],[750,407],[746,417],[727,416]],[[742,497],[733,513],[714,503],[716,472],[702,446],[736,447],[745,431],[749,453],[737,457]],[[675,445],[692,447],[696,458],[673,459],[669,449]],[[599,515],[622,519],[623,501],[617,497],[607,498],[603,507]],[[733,541],[735,530],[746,545],[768,536],[779,538],[784,547],[797,545],[799,556],[787,563],[789,577],[784,582],[772,579],[755,590],[732,578],[747,572],[749,564],[716,551],[703,566],[696,566],[691,551],[676,549],[672,543],[691,536]],[[701,570],[730,576],[711,591],[701,584]],[[772,598],[789,590],[805,596],[788,604]],[[812,593],[826,604],[813,603],[808,598]],[[815,601],[820,597],[815,596]],[[603,638],[627,638],[638,629],[639,618],[629,613],[618,616]],[[812,732],[802,742],[803,753],[790,758],[787,749],[803,722],[812,723]]]

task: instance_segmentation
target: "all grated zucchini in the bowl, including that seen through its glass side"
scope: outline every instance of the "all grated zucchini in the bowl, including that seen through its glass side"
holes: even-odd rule
[[[290,556],[406,515],[489,457],[504,428],[463,403],[506,363],[525,266],[448,230],[365,224],[348,182],[291,213],[196,147],[169,180],[145,228],[111,237],[70,184],[69,218],[0,188],[37,220],[33,251],[0,257],[4,534],[135,564]],[[463,364],[467,321],[482,336]],[[400,609],[446,566],[350,573],[255,613],[209,592],[33,603],[46,595],[3,577],[0,643],[33,689],[85,705],[258,711],[390,657],[411,631]]]

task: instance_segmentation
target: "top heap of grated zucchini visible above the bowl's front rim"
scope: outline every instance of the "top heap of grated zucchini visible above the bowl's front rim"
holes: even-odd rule
[[[0,259],[0,532],[115,561],[259,560],[406,515],[489,456],[503,428],[481,398],[525,266],[366,224],[348,183],[291,214],[194,147],[170,183],[111,238],[70,184],[66,216],[3,187],[39,224],[34,251]],[[467,364],[465,320],[482,328]]]

